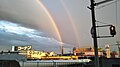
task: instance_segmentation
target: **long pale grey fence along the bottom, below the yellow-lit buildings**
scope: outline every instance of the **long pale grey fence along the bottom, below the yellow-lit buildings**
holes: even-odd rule
[[[21,67],[84,67],[85,63],[76,61],[27,61],[20,62]]]

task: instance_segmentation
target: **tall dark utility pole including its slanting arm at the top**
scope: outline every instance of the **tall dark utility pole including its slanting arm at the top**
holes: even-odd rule
[[[98,3],[95,3],[95,0],[91,0],[91,7],[88,7],[91,10],[91,15],[92,15],[92,29],[91,29],[91,34],[93,37],[93,42],[94,42],[94,53],[95,53],[95,67],[99,67],[99,57],[98,57],[98,45],[97,45],[97,32],[96,32],[96,19],[95,19],[95,6],[98,6],[100,4],[113,1],[113,0],[104,0]]]

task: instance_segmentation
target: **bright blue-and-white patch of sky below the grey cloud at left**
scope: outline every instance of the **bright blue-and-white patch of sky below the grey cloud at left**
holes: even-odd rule
[[[43,32],[21,27],[9,21],[2,20],[0,24],[0,46],[6,46],[6,49],[10,50],[10,47],[13,45],[32,45],[35,50],[55,52],[60,50],[60,42],[54,38],[43,36],[45,35]],[[72,48],[73,46],[64,43],[64,47]]]

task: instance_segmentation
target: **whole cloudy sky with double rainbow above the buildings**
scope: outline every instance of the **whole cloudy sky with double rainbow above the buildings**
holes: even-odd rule
[[[95,0],[100,2],[103,0]],[[117,35],[98,39],[98,46],[117,50],[120,41],[120,2],[95,7],[96,24],[113,24]],[[0,48],[10,50],[12,45],[32,45],[35,50],[60,53],[73,47],[93,47],[90,34],[90,0],[0,0]],[[110,35],[109,27],[97,28],[97,35]]]

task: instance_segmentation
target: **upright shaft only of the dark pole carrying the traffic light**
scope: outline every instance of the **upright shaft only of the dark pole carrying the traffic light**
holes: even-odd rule
[[[95,1],[91,0],[91,14],[92,14],[92,26],[93,26],[93,42],[94,42],[94,53],[95,53],[95,67],[99,67],[99,58],[98,58],[98,45],[97,45],[97,32],[96,32],[96,21],[95,21]]]

